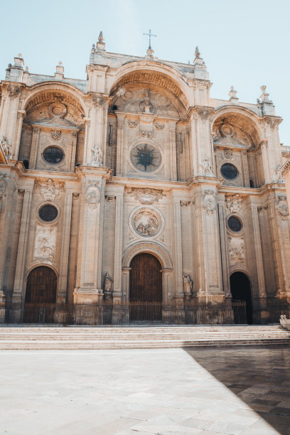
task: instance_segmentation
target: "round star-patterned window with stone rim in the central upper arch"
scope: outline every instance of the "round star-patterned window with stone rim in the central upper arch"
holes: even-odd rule
[[[131,162],[139,171],[155,171],[160,166],[161,154],[149,144],[136,145],[131,150]]]

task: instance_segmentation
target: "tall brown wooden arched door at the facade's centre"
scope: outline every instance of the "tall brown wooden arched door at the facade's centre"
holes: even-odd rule
[[[130,320],[161,320],[162,267],[159,259],[144,252],[131,260],[130,267]]]

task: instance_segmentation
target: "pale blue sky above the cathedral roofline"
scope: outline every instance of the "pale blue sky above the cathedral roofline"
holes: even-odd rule
[[[85,79],[100,30],[107,51],[142,56],[151,28],[160,59],[192,62],[198,45],[212,97],[227,99],[233,85],[240,101],[254,103],[267,85],[290,145],[289,16],[288,0],[2,1],[0,79],[18,53],[31,73],[53,75],[62,60],[66,77]]]

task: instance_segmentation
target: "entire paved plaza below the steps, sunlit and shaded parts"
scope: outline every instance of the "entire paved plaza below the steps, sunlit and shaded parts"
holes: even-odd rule
[[[290,348],[1,351],[1,434],[290,434]]]

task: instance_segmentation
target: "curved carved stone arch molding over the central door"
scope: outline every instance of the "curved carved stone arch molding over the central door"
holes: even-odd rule
[[[156,257],[160,260],[163,269],[172,271],[173,263],[170,254],[165,248],[157,245],[156,242],[138,242],[135,245],[127,248],[122,259],[122,268],[125,269],[130,267],[131,259],[135,257],[136,254],[139,254],[141,252],[149,252],[149,254],[155,254]]]

